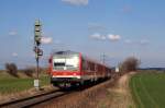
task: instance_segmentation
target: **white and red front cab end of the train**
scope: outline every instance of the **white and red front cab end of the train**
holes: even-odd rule
[[[76,85],[81,80],[81,55],[55,55],[50,59],[51,83],[54,86]]]

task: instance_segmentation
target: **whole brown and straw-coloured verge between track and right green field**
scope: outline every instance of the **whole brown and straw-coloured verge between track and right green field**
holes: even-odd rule
[[[128,73],[91,88],[51,101],[45,108],[135,108],[129,89]]]

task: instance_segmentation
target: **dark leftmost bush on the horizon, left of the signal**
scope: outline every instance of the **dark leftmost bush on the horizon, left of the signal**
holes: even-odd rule
[[[15,63],[6,63],[6,70],[12,76],[19,77],[18,75],[18,67]]]

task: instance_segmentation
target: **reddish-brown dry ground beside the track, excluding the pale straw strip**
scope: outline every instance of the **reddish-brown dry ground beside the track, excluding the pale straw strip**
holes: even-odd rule
[[[107,96],[106,88],[113,86],[113,81],[107,81],[88,89],[75,92],[53,101],[45,108],[100,108],[99,101]]]

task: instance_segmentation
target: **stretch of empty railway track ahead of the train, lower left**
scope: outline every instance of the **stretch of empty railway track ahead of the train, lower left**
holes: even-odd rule
[[[64,96],[70,92],[62,92],[59,89],[42,93],[40,95],[15,99],[12,101],[0,104],[0,108],[29,108],[44,101]]]

